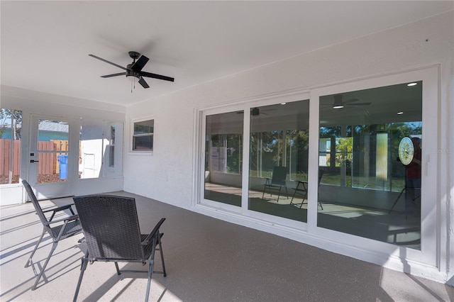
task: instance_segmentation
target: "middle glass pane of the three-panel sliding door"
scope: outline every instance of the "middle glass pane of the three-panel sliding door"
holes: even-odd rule
[[[250,111],[248,208],[307,221],[309,100]]]

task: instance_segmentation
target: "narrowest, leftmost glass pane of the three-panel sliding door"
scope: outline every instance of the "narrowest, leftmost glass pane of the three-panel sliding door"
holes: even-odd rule
[[[243,111],[206,116],[204,198],[241,206]]]

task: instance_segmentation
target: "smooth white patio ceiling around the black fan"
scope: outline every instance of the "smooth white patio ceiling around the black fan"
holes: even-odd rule
[[[454,1],[0,1],[1,84],[129,105],[453,9]],[[150,58],[149,89],[125,66]]]

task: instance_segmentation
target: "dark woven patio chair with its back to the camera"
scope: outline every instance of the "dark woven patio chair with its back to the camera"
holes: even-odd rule
[[[148,235],[140,234],[135,199],[123,196],[90,195],[76,196],[74,204],[82,223],[87,242],[87,252],[82,258],[82,267],[74,300],[77,300],[87,263],[95,261],[114,262],[117,274],[121,272],[145,272],[120,270],[118,262],[148,264],[148,284],[145,301],[148,301],[153,273],[166,276],[164,256],[159,229],[165,218],[155,225]],[[154,272],[155,250],[160,251],[162,272]]]

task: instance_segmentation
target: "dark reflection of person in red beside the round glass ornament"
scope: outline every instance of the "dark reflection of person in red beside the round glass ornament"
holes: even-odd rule
[[[406,173],[406,198],[405,205],[407,213],[418,211],[418,207],[414,209],[416,204],[421,205],[421,139],[411,138],[413,142],[414,155],[413,160],[405,167]]]

